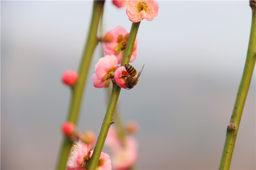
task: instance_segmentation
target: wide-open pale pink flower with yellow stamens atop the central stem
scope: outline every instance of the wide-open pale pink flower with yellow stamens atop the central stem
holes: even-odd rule
[[[158,3],[155,0],[128,0],[126,14],[132,22],[142,19],[152,21],[158,15]]]

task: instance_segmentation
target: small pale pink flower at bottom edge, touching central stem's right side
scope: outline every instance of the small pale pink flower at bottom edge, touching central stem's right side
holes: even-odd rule
[[[93,151],[91,152],[92,156]],[[111,170],[111,160],[110,156],[107,153],[101,152],[98,164],[96,166],[96,170]]]

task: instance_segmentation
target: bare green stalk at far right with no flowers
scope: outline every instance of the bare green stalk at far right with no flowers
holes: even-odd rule
[[[231,163],[232,155],[234,152],[239,124],[241,122],[241,117],[244,110],[244,104],[245,104],[245,100],[250,87],[252,73],[253,73],[255,61],[256,61],[256,15],[254,15],[255,8],[256,8],[255,7],[256,1],[250,1],[250,6],[252,7],[252,26],[251,26],[249,46],[248,46],[246,61],[244,65],[242,80],[237,92],[231,120],[227,128],[226,141],[225,141],[224,149],[222,152],[219,169],[230,168],[230,163]]]

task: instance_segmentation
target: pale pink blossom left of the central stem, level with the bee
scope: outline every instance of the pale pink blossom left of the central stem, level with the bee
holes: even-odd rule
[[[106,88],[114,78],[114,72],[117,68],[117,59],[115,55],[106,55],[95,64],[95,73],[92,74],[93,86],[97,88]]]

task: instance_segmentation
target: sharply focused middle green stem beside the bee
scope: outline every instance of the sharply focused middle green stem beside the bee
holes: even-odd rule
[[[130,61],[130,58],[132,55],[132,49],[134,46],[134,42],[136,39],[136,35],[138,32],[139,26],[140,26],[140,22],[132,23],[130,35],[129,35],[129,38],[127,41],[126,48],[124,50],[124,57],[123,57],[121,65],[128,64]],[[100,159],[100,153],[102,151],[103,145],[105,143],[105,140],[106,140],[106,137],[108,134],[108,129],[109,129],[110,125],[114,123],[114,121],[112,121],[112,117],[113,117],[113,114],[114,114],[114,111],[116,108],[116,103],[117,103],[120,91],[121,91],[121,87],[119,87],[118,85],[116,85],[113,82],[113,89],[112,89],[110,99],[108,102],[107,111],[106,111],[101,129],[100,129],[100,133],[99,133],[95,148],[93,150],[92,157],[89,160],[89,162],[87,163],[87,168],[86,168],[87,170],[95,170],[96,169],[98,160]]]

